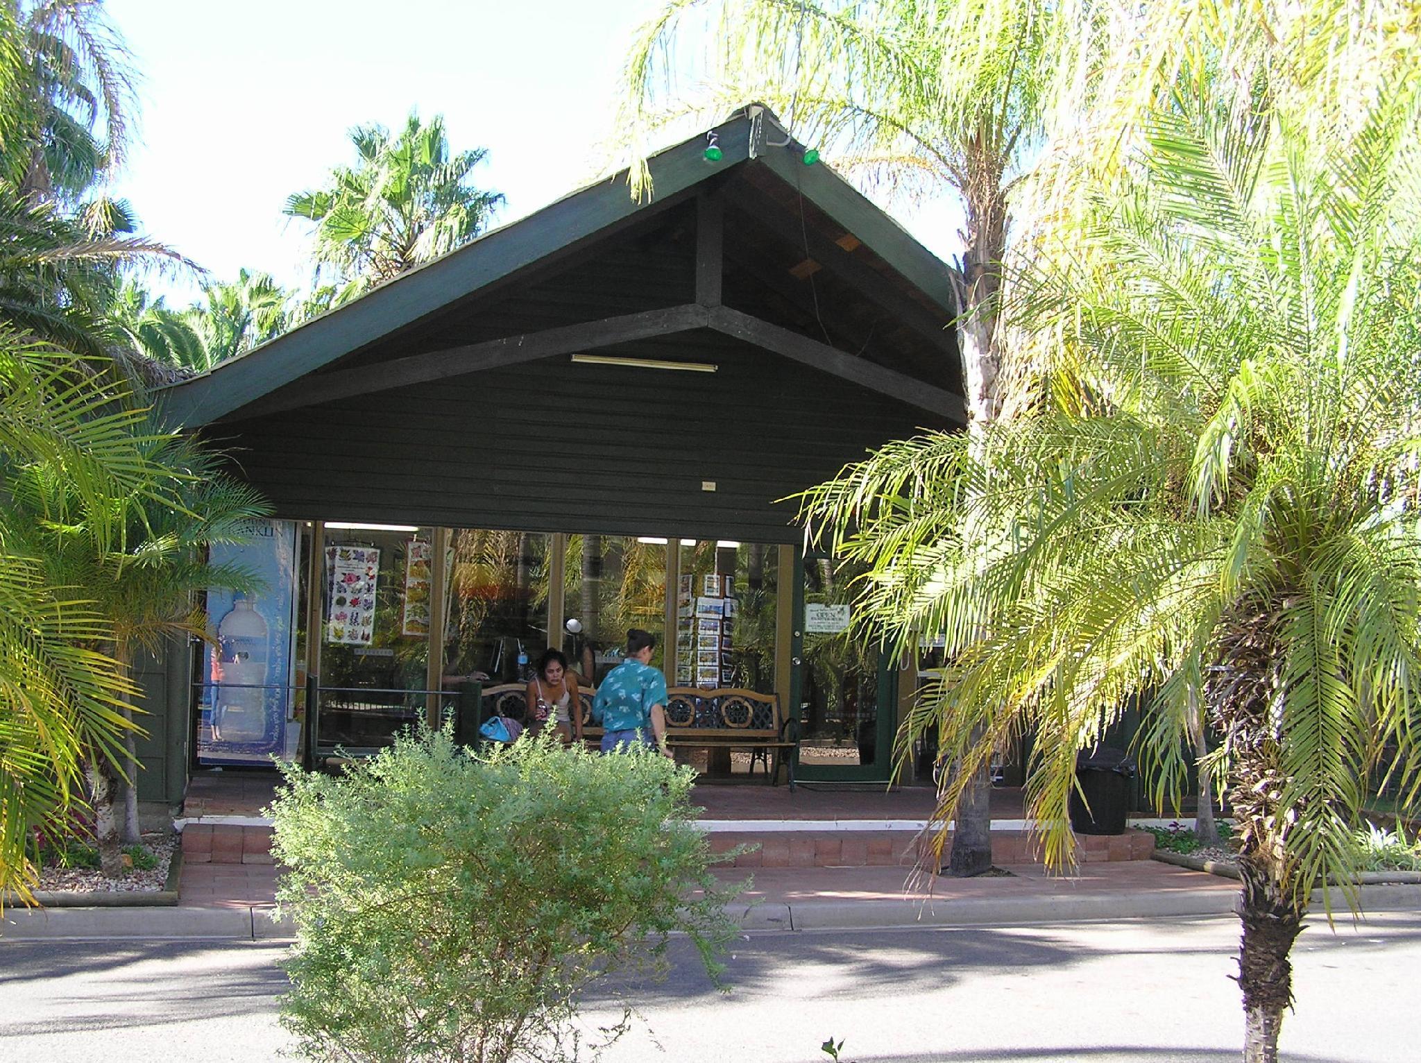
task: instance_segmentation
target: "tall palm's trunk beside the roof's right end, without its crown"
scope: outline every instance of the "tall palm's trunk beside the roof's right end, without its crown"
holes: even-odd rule
[[[1006,253],[1005,161],[993,151],[989,131],[980,131],[965,156],[966,247],[958,284],[961,318],[958,351],[968,399],[968,432],[980,441],[1002,411],[1002,351],[996,334],[998,293],[1002,287],[1002,257]],[[985,632],[983,632],[985,634]],[[975,736],[973,742],[976,740]],[[992,867],[992,777],[978,770],[962,792],[952,821],[952,851],[946,871],[966,878]]]

